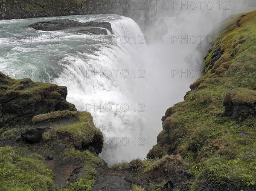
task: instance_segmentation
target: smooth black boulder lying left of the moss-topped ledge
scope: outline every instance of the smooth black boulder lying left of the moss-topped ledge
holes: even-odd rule
[[[29,128],[21,134],[21,137],[28,143],[38,143],[42,140],[43,133],[48,130],[49,127]]]

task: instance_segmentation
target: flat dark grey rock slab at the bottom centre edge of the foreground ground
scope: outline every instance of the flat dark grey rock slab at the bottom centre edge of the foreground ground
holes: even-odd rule
[[[93,191],[130,191],[131,184],[116,176],[99,177]]]

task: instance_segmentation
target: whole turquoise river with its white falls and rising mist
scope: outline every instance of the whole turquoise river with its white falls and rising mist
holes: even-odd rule
[[[118,15],[1,20],[0,70],[15,78],[67,86],[67,100],[89,111],[105,134],[100,156],[108,164],[145,158],[156,144],[166,109],[182,101],[189,85],[200,77],[203,55],[193,51],[200,36],[232,13],[180,11],[177,17],[165,19],[169,31],[163,40],[148,44],[134,20]],[[113,34],[90,36],[27,27],[64,18],[108,21]],[[176,39],[186,35],[188,42]]]

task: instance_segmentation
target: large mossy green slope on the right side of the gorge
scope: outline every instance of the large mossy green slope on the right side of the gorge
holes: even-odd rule
[[[256,11],[227,21],[205,57],[204,76],[166,111],[148,157],[180,154],[196,182],[256,184],[256,116],[224,117],[224,102],[256,104]]]

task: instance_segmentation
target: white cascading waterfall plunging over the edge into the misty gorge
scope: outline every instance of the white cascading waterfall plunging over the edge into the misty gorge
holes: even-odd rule
[[[111,26],[114,41],[94,43],[90,45],[93,52],[76,51],[64,57],[60,61],[63,71],[53,81],[67,86],[68,101],[92,114],[106,137],[100,156],[109,164],[145,157],[149,149],[143,146],[146,122],[140,110],[144,103],[135,85],[145,81],[141,69],[145,63],[140,57],[146,47],[144,36],[128,17],[111,21]]]

